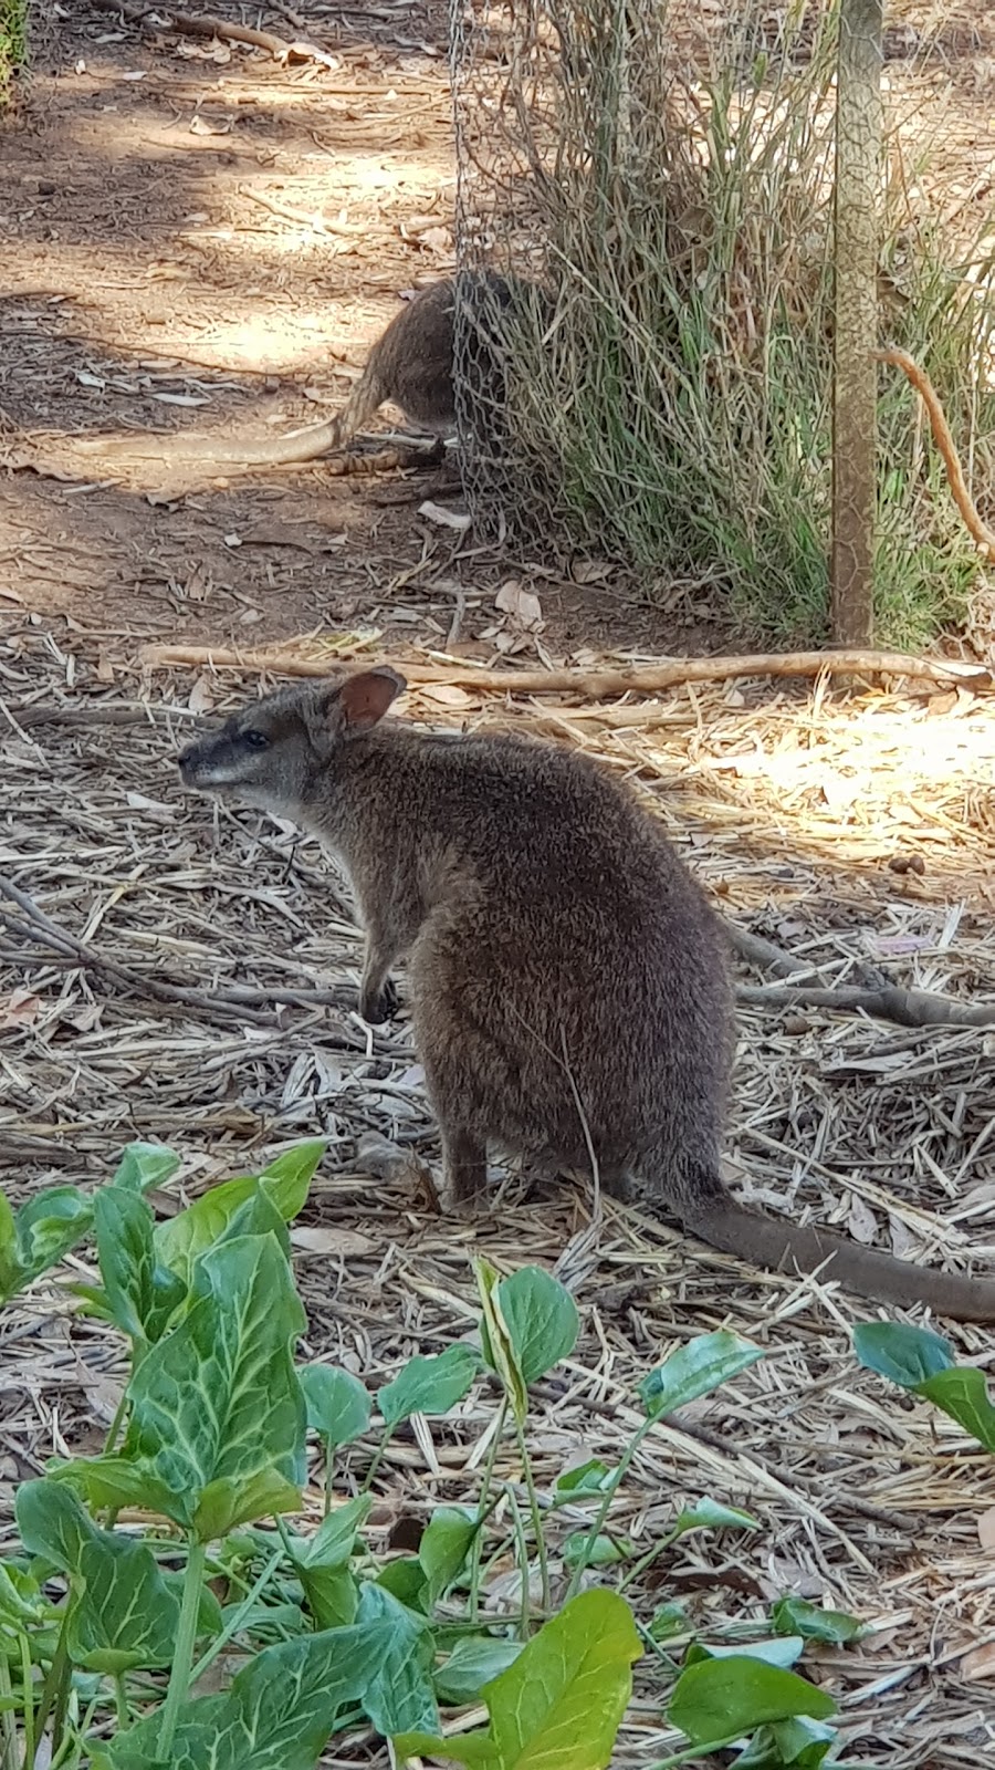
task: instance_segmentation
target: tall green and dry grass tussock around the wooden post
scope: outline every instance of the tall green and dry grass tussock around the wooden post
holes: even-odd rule
[[[676,12],[675,12],[676,19]],[[515,324],[503,508],[634,566],[712,582],[758,635],[825,635],[830,540],[834,14],[802,42],[729,35],[676,71],[666,0],[559,9],[535,124],[549,310]],[[529,76],[531,78],[531,76]],[[531,119],[531,122],[529,122]],[[542,133],[542,142],[540,142]],[[551,147],[552,142],[552,147]],[[976,487],[993,481],[995,234],[954,251],[910,196],[898,129],[882,343],[933,379]],[[972,469],[972,471],[970,471]],[[878,635],[958,620],[977,559],[905,379],[880,381]],[[476,489],[487,497],[487,483]]]

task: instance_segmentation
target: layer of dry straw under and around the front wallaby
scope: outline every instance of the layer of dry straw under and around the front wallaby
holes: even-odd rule
[[[73,680],[41,639],[5,653],[0,873],[50,926],[4,899],[4,1184],[19,1195],[96,1179],[143,1135],[182,1150],[195,1193],[324,1129],[331,1152],[297,1250],[306,1351],[374,1388],[411,1352],[473,1329],[474,1251],[501,1269],[559,1262],[582,1340],[535,1398],[540,1487],[572,1460],[618,1458],[634,1384],[676,1343],[722,1324],[756,1336],[765,1363],[650,1434],[611,1526],[643,1551],[708,1492],[763,1528],[676,1545],[634,1591],[639,1612],[680,1600],[708,1639],[731,1639],[784,1591],[852,1609],[876,1632],[813,1662],[841,1703],[850,1759],[880,1770],[984,1759],[995,1612],[979,1529],[995,1467],[949,1421],[855,1368],[848,1324],[871,1312],[816,1281],[745,1273],[611,1202],[591,1234],[581,1189],[540,1193],[512,1177],[487,1220],[451,1221],[404,1165],[374,1163],[372,1179],[363,1138],[430,1158],[434,1127],[407,1021],[370,1032],[351,1011],[359,940],[328,867],[290,830],[181,795],[189,676],[156,678],[149,692],[101,687],[81,655]],[[198,699],[207,690],[223,710],[246,687],[207,676]],[[469,690],[459,708],[411,699],[430,722],[512,720],[637,779],[722,910],[823,986],[876,968],[993,1002],[986,701],[963,690],[832,701],[823,685],[749,683],[613,708],[549,696],[496,710]],[[912,855],[922,873],[891,871]],[[740,975],[754,988],[770,977]],[[885,1248],[995,1266],[988,1044],[974,1028],[744,1011],[731,1177]],[[76,1271],[87,1274],[85,1258]],[[988,1363],[983,1331],[956,1338]],[[51,1285],[5,1312],[4,1529],[18,1480],[64,1444],[96,1448],[122,1379],[115,1359],[104,1328],[71,1320]],[[492,1397],[474,1391],[455,1420],[398,1437],[377,1478],[382,1542],[398,1517],[467,1497],[492,1421]],[[351,1453],[359,1476],[366,1455]],[[498,1471],[517,1492],[512,1443]],[[650,1658],[618,1770],[675,1749],[664,1683]],[[386,1756],[358,1738],[335,1763],[384,1770]]]

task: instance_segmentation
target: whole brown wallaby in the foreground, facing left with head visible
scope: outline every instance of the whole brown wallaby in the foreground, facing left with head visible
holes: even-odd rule
[[[733,1053],[724,940],[657,821],[570,750],[382,715],[395,671],[282,689],[181,756],[186,786],[313,830],[366,929],[359,1012],[407,954],[414,1041],[453,1200],[494,1143],[629,1179],[724,1253],[827,1267],[880,1303],[995,1320],[995,1281],[747,1209],[719,1175]]]

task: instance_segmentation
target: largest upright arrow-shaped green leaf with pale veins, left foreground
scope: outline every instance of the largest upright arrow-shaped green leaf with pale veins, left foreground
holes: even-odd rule
[[[166,1517],[209,1542],[296,1504],[305,1398],[292,1347],[305,1312],[273,1235],[212,1248],[195,1283],[202,1294],[131,1379],[124,1458],[170,1492]]]

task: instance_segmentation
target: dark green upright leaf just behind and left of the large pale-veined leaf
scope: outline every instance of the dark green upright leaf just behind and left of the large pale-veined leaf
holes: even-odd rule
[[[156,1260],[154,1218],[142,1193],[103,1186],[94,1195],[97,1260],[110,1319],[138,1347],[159,1340],[186,1285]]]

